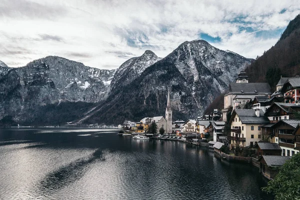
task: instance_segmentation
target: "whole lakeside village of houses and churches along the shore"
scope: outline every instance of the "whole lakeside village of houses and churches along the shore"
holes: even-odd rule
[[[251,162],[273,179],[277,167],[300,150],[300,77],[281,77],[274,92],[268,83],[248,79],[245,71],[239,72],[229,84],[221,111],[172,121],[168,92],[165,117],[144,117],[124,129],[209,146],[220,157]],[[154,131],[149,131],[151,124]]]

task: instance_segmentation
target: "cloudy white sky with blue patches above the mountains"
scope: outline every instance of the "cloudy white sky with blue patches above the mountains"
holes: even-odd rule
[[[299,13],[298,0],[0,0],[0,60],[58,55],[111,69],[194,39],[255,58]]]

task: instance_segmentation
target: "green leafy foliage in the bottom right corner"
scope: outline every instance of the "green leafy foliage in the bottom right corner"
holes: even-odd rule
[[[262,191],[274,194],[275,199],[300,199],[300,153],[287,160]]]

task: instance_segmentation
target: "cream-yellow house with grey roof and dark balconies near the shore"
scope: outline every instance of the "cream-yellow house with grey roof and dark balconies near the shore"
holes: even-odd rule
[[[231,127],[231,145],[240,146],[253,145],[261,140],[261,125],[269,123],[262,110],[234,109],[229,119]]]

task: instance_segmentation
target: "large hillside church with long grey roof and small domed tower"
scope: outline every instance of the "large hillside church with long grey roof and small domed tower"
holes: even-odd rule
[[[227,121],[226,114],[232,106],[235,108],[244,108],[247,102],[254,99],[255,96],[268,96],[271,94],[271,88],[266,82],[248,82],[249,77],[245,71],[240,71],[235,83],[229,84],[229,91],[224,95],[224,108],[222,109],[223,121]]]

